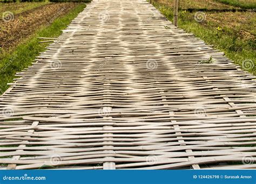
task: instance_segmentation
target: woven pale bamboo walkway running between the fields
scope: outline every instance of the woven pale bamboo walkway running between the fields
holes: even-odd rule
[[[93,1],[17,76],[2,169],[256,168],[255,76],[146,1]]]

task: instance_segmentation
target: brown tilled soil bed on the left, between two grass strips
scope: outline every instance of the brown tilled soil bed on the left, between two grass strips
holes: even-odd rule
[[[50,25],[57,17],[65,15],[77,3],[51,3],[16,15],[9,22],[0,22],[0,46],[8,51],[21,39],[28,38],[42,25]]]

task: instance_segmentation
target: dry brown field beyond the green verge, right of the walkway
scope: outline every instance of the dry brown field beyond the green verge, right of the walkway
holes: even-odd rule
[[[170,0],[154,0],[154,2],[159,2],[160,5],[169,7],[173,6],[173,1]],[[255,40],[256,16],[252,10],[244,11],[231,5],[215,2],[214,0],[180,0],[179,8],[181,9],[179,11],[180,19],[193,21],[194,12],[203,9],[206,16],[205,21],[201,24],[209,29],[215,30],[219,27],[220,32],[234,34],[234,36],[245,40]],[[185,12],[183,11],[184,9],[193,9],[194,11]]]

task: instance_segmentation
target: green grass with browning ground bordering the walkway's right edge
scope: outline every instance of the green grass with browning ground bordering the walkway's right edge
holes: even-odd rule
[[[173,8],[163,2],[154,2],[156,8],[173,20]],[[256,74],[256,18],[253,12],[205,12],[202,23],[194,20],[194,13],[179,11],[179,27],[195,34],[248,72]]]

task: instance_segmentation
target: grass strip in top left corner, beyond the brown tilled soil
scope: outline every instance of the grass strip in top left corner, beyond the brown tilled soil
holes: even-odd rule
[[[1,3],[1,2],[0,2]],[[45,2],[22,2],[22,3],[1,3],[0,6],[0,14],[2,17],[2,14],[6,11],[10,11],[12,13],[14,13],[14,15],[17,15],[19,13],[23,13],[35,8],[38,8],[40,6],[49,4],[50,2],[45,1]]]

